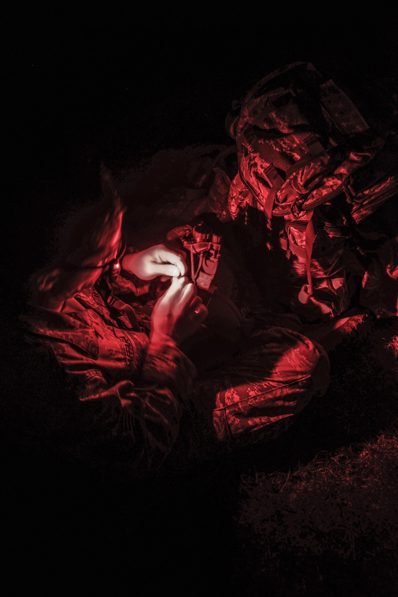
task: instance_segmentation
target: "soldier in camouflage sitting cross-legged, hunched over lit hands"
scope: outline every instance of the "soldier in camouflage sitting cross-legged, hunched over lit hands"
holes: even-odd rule
[[[179,346],[200,327],[206,307],[185,277],[182,253],[164,245],[121,261],[130,285],[136,281],[136,295],[156,276],[172,280],[155,303],[149,334],[131,306],[111,294],[120,270],[123,208],[109,175],[104,179],[105,211],[85,221],[65,259],[36,278],[36,297],[23,318],[33,352],[50,349],[78,392],[67,407],[48,396],[51,405],[40,407],[48,429],[68,438],[65,449],[74,457],[133,475],[159,469],[184,411],[202,413],[201,423],[188,430],[193,456],[191,448],[177,454],[182,462],[191,458],[188,464],[277,436],[313,396],[326,392],[329,361],[322,346],[300,333],[295,316],[256,313],[234,358],[193,384],[195,365]]]

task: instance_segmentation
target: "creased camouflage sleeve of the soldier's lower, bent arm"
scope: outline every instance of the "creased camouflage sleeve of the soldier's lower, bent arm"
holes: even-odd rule
[[[126,372],[125,379],[114,383],[94,359],[79,355],[77,347],[53,340],[50,344],[77,383],[82,416],[91,413],[93,417],[90,459],[101,467],[132,469],[136,476],[157,470],[179,433],[196,374],[191,361],[165,337],[161,343],[149,344],[139,372],[131,372],[130,378]],[[86,448],[88,443],[84,442]],[[99,447],[102,456],[94,456]]]

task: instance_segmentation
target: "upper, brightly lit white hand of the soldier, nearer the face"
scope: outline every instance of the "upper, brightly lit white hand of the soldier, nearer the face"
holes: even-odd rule
[[[155,245],[145,251],[126,255],[122,267],[140,280],[153,280],[156,276],[162,276],[162,281],[165,281],[185,276],[188,270],[183,251],[170,250],[164,245]]]

